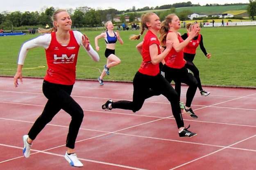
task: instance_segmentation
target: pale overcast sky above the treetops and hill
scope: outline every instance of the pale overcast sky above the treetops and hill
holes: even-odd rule
[[[1,0],[0,13],[3,11],[45,11],[48,7],[59,9],[76,9],[76,7],[91,7],[95,10],[114,8],[118,11],[136,9],[143,7],[156,7],[165,4],[174,4],[180,2],[192,2],[192,4],[231,4],[231,3],[249,3],[249,0]]]

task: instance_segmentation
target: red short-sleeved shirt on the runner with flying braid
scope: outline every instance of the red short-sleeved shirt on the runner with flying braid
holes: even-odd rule
[[[159,73],[159,63],[156,65],[152,64],[150,57],[150,46],[152,44],[157,45],[158,55],[161,54],[161,46],[157,36],[148,30],[142,44],[143,62],[141,63],[138,71],[142,74],[156,76]]]

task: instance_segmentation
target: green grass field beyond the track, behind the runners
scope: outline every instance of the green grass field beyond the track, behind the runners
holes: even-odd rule
[[[211,59],[208,60],[200,48],[197,49],[194,63],[199,68],[202,84],[256,87],[255,30],[255,26],[202,28],[204,46],[206,51],[211,53]],[[186,29],[179,31],[181,34],[186,33]],[[94,38],[101,32],[85,32],[93,48],[95,48]],[[106,75],[104,79],[132,81],[142,61],[135,46],[143,40],[145,34],[141,40],[129,40],[129,37],[139,33],[139,31],[120,31],[124,44],[116,45],[116,55],[120,57],[121,64],[111,68],[110,75]],[[39,34],[0,37],[0,75],[16,73],[20,46],[37,35]],[[99,40],[99,46],[99,62],[94,62],[84,49],[80,48],[77,78],[97,79],[100,76],[100,71],[106,63],[104,56],[106,45],[103,39]],[[45,67],[37,68],[38,66]],[[44,77],[47,69],[44,49],[29,50],[23,68],[29,68],[23,70],[23,76]]]

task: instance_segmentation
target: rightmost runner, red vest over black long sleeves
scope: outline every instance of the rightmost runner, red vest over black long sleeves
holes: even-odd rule
[[[200,27],[198,23],[188,23],[187,24],[187,29],[188,32],[191,31],[191,26],[195,25],[195,27],[197,28],[197,35],[195,36],[195,38],[193,38],[189,44],[184,48],[183,52],[184,52],[184,59],[186,60],[186,68],[188,68],[190,71],[192,71],[192,73],[194,74],[194,77],[197,79],[198,85],[197,87],[199,88],[200,94],[202,96],[208,96],[210,94],[210,92],[206,92],[203,90],[202,88],[202,84],[201,84],[201,80],[199,77],[199,70],[198,68],[195,66],[195,64],[193,63],[193,60],[195,58],[195,53],[196,53],[196,49],[198,46],[200,46],[200,49],[203,51],[204,55],[210,59],[211,58],[211,54],[206,52],[206,49],[204,48],[204,43],[203,43],[203,36],[200,34]],[[186,38],[188,38],[189,33],[185,33],[184,35],[181,35],[181,37],[185,40]]]

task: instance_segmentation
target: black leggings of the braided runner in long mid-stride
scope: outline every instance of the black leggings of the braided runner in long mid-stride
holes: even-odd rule
[[[184,127],[179,106],[179,96],[160,73],[156,76],[150,76],[137,72],[134,76],[133,86],[133,101],[121,100],[113,102],[112,108],[121,108],[136,112],[143,106],[145,99],[153,96],[154,94],[152,92],[156,92],[157,95],[162,94],[169,100],[178,128]]]

